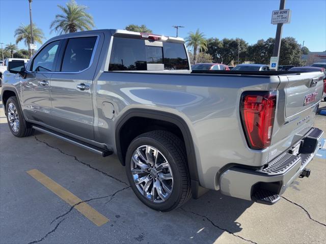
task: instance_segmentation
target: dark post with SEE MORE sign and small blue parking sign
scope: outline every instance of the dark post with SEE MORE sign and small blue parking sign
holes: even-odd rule
[[[277,24],[274,51],[273,51],[273,55],[272,55],[272,57],[277,58],[277,64],[276,64],[275,70],[277,70],[277,68],[278,68],[278,60],[279,60],[279,56],[280,56],[283,24],[290,23],[290,17],[291,17],[291,11],[289,9],[284,9],[284,6],[285,6],[285,0],[281,0],[280,1],[280,10],[274,10],[271,13],[271,23]],[[274,60],[276,60],[276,59],[274,59]],[[271,63],[271,58],[270,58],[270,63]],[[273,64],[275,64],[275,62],[273,62]],[[273,69],[273,67],[271,67],[271,66],[269,68]]]

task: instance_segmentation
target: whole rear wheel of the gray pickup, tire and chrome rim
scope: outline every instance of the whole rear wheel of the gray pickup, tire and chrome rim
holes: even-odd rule
[[[191,196],[183,142],[168,131],[151,131],[135,138],[126,154],[130,186],[147,206],[170,211]]]

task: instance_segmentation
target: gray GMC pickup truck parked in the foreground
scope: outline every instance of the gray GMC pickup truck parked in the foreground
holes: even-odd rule
[[[62,35],[8,70],[14,136],[35,129],[117,154],[137,197],[160,211],[207,189],[273,204],[309,176],[323,134],[313,127],[322,72],[192,71],[181,38]]]

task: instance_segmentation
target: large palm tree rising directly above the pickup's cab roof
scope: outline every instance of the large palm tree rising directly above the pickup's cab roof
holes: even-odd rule
[[[59,34],[72,33],[77,31],[89,31],[95,27],[92,15],[86,12],[88,7],[78,5],[70,0],[66,7],[58,5],[63,14],[57,14],[55,20],[50,24],[51,32]]]

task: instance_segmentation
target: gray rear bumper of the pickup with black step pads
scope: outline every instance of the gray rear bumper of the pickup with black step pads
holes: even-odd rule
[[[260,190],[281,195],[311,162],[321,146],[322,135],[323,131],[312,128],[293,146],[300,144],[297,155],[291,154],[290,149],[263,169],[232,167],[226,170],[220,176],[222,194],[246,200],[255,200],[254,195]]]

